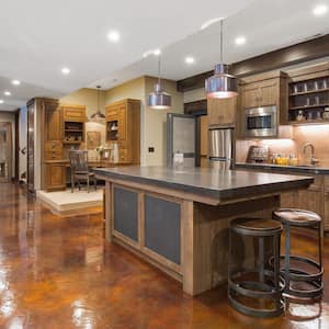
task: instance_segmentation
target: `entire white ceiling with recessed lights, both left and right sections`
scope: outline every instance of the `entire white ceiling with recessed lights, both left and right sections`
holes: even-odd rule
[[[11,0],[0,11],[0,104],[14,110],[33,97],[60,98],[82,87],[103,89],[141,75],[157,75],[149,49],[162,49],[162,72],[182,79],[213,68],[219,59],[219,25],[200,26],[225,16],[225,58],[242,60],[318,33],[329,33],[329,13],[315,18],[313,0]],[[327,3],[329,0],[321,0]],[[111,44],[110,30],[122,39]],[[247,37],[237,47],[234,38]],[[186,66],[185,56],[195,64]],[[63,76],[60,69],[71,73]],[[20,79],[21,86],[10,83]],[[11,97],[3,91],[10,90]]]

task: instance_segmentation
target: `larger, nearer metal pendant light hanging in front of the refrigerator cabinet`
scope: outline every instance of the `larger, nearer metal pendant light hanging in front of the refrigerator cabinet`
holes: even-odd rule
[[[223,22],[220,21],[220,64],[215,66],[214,76],[205,80],[205,91],[209,99],[228,99],[238,95],[237,78],[228,73],[228,65],[223,63]]]

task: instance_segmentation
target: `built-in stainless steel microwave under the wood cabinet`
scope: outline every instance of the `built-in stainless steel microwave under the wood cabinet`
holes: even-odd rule
[[[275,137],[277,135],[276,105],[245,109],[245,137]]]

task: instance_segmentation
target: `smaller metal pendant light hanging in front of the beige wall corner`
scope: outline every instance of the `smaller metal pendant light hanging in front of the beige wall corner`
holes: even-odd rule
[[[158,55],[158,82],[148,95],[148,106],[154,110],[167,110],[171,106],[171,95],[161,86],[161,55]]]

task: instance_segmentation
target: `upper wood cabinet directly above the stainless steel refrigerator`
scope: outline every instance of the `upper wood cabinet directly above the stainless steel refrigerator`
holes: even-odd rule
[[[238,98],[207,99],[208,125],[228,125],[236,123]]]

